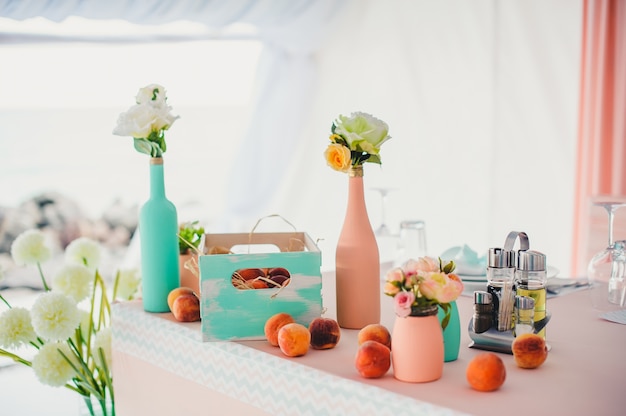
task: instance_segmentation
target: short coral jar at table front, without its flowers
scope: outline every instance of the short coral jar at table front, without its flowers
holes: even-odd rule
[[[408,383],[426,383],[443,373],[443,333],[437,305],[422,308],[420,316],[396,317],[391,333],[393,376]],[[415,310],[415,309],[414,309]]]

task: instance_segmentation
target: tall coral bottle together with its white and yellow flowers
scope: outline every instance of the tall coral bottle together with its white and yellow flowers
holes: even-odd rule
[[[380,322],[380,259],[363,193],[363,164],[380,164],[387,124],[367,113],[340,115],[332,126],[326,163],[348,174],[348,206],[335,252],[337,322],[361,329]]]

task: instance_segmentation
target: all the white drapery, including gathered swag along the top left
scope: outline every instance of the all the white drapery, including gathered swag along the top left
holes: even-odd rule
[[[511,230],[567,275],[576,146],[580,0],[0,0],[0,16],[69,14],[155,23],[257,24],[257,107],[209,227],[249,231],[278,213],[323,239],[332,263],[347,178],[322,153],[338,114],[387,121],[391,141],[365,184],[374,227],[426,221],[429,251],[484,252]]]

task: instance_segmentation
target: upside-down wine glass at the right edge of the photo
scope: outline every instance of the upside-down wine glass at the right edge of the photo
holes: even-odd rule
[[[626,240],[613,240],[615,211],[626,206],[626,201],[601,201],[594,205],[603,207],[609,220],[608,246],[589,262],[591,305],[599,311],[626,309]]]

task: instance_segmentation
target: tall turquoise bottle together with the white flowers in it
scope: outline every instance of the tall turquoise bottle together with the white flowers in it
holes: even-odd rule
[[[165,195],[165,130],[178,117],[166,103],[165,88],[139,90],[136,104],[120,114],[113,134],[134,138],[135,149],[150,156],[150,198],[139,212],[142,302],[147,312],[169,312],[167,295],[180,286],[178,216]]]

